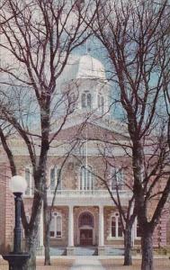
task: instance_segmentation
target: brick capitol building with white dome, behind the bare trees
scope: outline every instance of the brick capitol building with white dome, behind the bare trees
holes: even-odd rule
[[[124,243],[121,219],[112,196],[117,199],[116,188],[119,188],[121,205],[126,211],[132,196],[128,188],[132,173],[130,157],[121,147],[130,141],[126,126],[114,119],[111,111],[112,95],[116,89],[112,90],[103,64],[85,54],[70,58],[61,77],[60,91],[70,93],[70,111],[66,124],[49,148],[47,178],[48,203],[52,209],[51,250],[58,255],[79,255],[79,247],[86,247],[91,255],[109,255],[113,250],[119,250],[121,254]],[[59,117],[63,117],[62,112]],[[28,183],[23,200],[29,220],[34,191],[29,154],[17,137],[11,139],[11,147],[20,174]],[[67,151],[70,151],[68,156]],[[13,195],[6,181],[10,170],[2,146],[0,155],[0,245],[8,246],[13,239]],[[169,224],[165,211],[154,232],[155,247],[170,244]],[[41,212],[39,252],[43,252],[43,234]],[[24,244],[24,234],[22,242]],[[132,229],[132,246],[134,249],[140,247],[137,219]]]

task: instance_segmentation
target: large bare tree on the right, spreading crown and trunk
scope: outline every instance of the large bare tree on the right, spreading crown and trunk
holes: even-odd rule
[[[154,137],[156,127],[161,126],[163,79],[170,61],[169,44],[163,41],[167,40],[169,31],[169,6],[167,1],[160,5],[151,0],[128,3],[96,0],[95,4],[97,14],[92,29],[112,64],[112,78],[120,91],[120,103],[131,139],[133,192],[142,232],[141,269],[152,270],[152,235],[170,191],[167,174],[153,215],[148,218],[149,200],[155,196],[157,182],[163,181],[165,175],[166,162],[163,160],[166,159],[167,144],[163,132],[158,136],[157,158],[153,158],[157,166],[151,166],[153,169],[149,172],[145,157],[150,137]]]

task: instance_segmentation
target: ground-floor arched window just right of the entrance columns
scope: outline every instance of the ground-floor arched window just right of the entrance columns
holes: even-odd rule
[[[123,235],[123,230],[121,226],[121,219],[119,213],[114,213],[111,216],[111,237],[121,238]]]

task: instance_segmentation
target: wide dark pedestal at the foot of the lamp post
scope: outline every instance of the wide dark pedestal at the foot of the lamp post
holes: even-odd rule
[[[25,266],[27,260],[30,258],[30,254],[28,253],[9,253],[3,255],[4,260],[8,261],[9,270],[23,270],[23,266]]]

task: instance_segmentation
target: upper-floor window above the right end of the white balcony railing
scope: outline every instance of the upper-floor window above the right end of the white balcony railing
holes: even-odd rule
[[[111,188],[112,190],[122,189],[123,186],[123,170],[114,168],[111,172]]]

